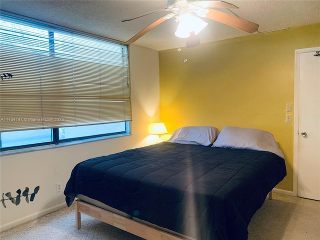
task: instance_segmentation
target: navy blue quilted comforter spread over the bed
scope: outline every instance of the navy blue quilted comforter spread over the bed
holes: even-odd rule
[[[80,193],[198,240],[247,239],[285,175],[271,152],[162,142],[78,163],[64,194],[68,206]]]

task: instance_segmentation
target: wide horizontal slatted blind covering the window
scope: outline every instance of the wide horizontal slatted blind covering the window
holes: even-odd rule
[[[128,69],[125,44],[1,15],[0,130],[130,121]]]

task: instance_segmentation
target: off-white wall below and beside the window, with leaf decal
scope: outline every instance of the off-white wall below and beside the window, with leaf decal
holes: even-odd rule
[[[0,158],[0,194],[29,187],[29,193],[39,185],[34,201],[24,197],[15,206],[6,200],[0,206],[0,230],[8,229],[60,207],[66,206],[63,190],[56,192],[56,183],[62,189],[73,166],[90,157],[107,155],[125,149],[149,144],[148,125],[159,120],[159,64],[158,52],[130,45],[130,78],[132,103],[132,135],[55,147],[44,150],[4,155]]]

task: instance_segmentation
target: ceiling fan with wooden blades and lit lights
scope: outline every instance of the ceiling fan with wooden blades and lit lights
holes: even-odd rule
[[[175,21],[179,23],[175,35],[181,38],[185,38],[187,47],[192,47],[200,44],[200,41],[197,37],[197,33],[207,25],[207,23],[204,22],[201,18],[208,18],[215,21],[219,21],[221,23],[241,29],[249,33],[257,31],[259,27],[259,25],[254,22],[212,8],[238,7],[231,3],[220,0],[168,0],[167,7],[164,9],[151,11],[137,17],[120,20],[120,22],[130,21],[155,12],[170,11],[170,13],[160,17],[156,21],[152,22],[150,25],[146,26],[144,29],[139,31],[125,43],[130,44],[136,41],[138,38],[143,36],[152,28],[172,17],[175,17]]]

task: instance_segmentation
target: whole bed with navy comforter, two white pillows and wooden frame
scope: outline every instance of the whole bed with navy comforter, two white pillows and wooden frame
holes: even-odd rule
[[[183,127],[165,142],[85,160],[66,203],[148,240],[247,239],[247,226],[286,175],[267,131]]]

